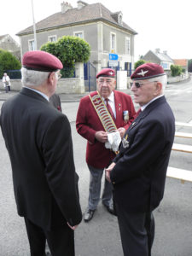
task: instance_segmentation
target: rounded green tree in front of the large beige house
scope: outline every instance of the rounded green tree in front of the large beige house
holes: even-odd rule
[[[41,50],[55,55],[63,64],[63,77],[73,77],[75,62],[87,62],[90,58],[90,44],[82,38],[64,36],[55,43],[41,46]]]

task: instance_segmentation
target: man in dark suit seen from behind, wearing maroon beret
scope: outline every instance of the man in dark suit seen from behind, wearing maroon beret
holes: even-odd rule
[[[13,171],[18,214],[25,218],[31,255],[74,255],[74,231],[81,222],[79,177],[73,162],[67,116],[53,108],[61,61],[44,51],[22,60],[23,88],[3,103],[1,128]]]

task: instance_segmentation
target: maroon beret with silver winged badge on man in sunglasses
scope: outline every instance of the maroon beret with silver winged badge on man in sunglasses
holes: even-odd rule
[[[163,67],[156,63],[144,63],[143,65],[137,67],[134,73],[131,74],[132,80],[143,80],[143,79],[153,79],[155,77],[163,76]]]

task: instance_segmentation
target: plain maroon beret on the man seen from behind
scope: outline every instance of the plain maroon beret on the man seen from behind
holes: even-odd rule
[[[22,65],[27,69],[44,72],[53,72],[63,67],[61,61],[55,55],[43,50],[27,51],[23,55]]]

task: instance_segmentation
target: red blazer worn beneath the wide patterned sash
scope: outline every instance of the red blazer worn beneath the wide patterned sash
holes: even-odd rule
[[[96,92],[91,93],[91,95]],[[134,119],[135,108],[131,100],[131,96],[121,91],[114,90],[114,102],[116,109],[116,121],[117,128],[124,127],[125,130],[131,125]],[[123,117],[123,111],[129,111],[129,122],[125,123]],[[89,96],[84,96],[79,103],[79,110],[76,119],[76,129],[79,134],[87,139],[86,149],[86,162],[88,165],[98,169],[102,169],[109,165],[109,163],[115,157],[115,154],[110,149],[105,148],[105,143],[96,141],[96,131],[105,131],[102,123],[96,113],[95,108],[90,102]]]

